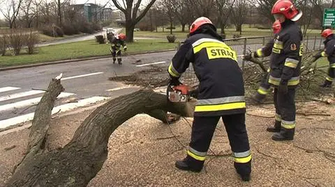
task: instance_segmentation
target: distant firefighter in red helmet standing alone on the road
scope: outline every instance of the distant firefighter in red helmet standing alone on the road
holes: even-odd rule
[[[124,51],[127,50],[125,40],[126,40],[126,35],[124,33],[119,33],[110,42],[111,43],[110,52],[112,53],[112,56],[113,56],[113,64],[115,63],[116,60],[119,63],[119,65],[122,64],[121,63],[122,61],[121,47],[124,49]]]

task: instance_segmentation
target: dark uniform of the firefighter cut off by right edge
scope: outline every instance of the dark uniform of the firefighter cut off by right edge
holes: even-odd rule
[[[334,34],[326,38],[325,49],[321,52],[320,56],[328,58],[329,68],[323,87],[330,87],[335,79],[335,38]]]

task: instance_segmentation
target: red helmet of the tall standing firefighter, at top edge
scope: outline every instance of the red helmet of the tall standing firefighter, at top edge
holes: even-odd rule
[[[290,0],[278,0],[272,7],[271,14],[282,14],[286,19],[291,19],[297,22],[300,19],[302,12],[295,8]]]

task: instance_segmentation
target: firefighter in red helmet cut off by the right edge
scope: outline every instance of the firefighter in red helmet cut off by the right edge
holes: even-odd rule
[[[335,79],[335,38],[331,29],[325,29],[322,31],[321,35],[325,38],[325,41],[323,42],[325,44],[325,49],[314,56],[314,61],[318,60],[320,57],[327,56],[329,61],[328,73],[325,83],[320,86],[323,88],[331,88]]]

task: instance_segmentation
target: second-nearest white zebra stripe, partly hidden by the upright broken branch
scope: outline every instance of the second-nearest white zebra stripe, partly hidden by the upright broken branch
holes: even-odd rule
[[[64,98],[64,97],[69,97],[71,95],[75,95],[75,94],[67,93],[67,92],[61,92],[61,94],[57,97],[57,99],[61,99],[61,98]],[[11,103],[11,104],[4,104],[4,105],[0,106],[0,112],[1,111],[10,111],[10,110],[13,110],[14,108],[23,108],[24,106],[31,106],[31,105],[34,105],[34,104],[38,104],[40,99],[42,99],[42,97],[36,97],[34,99],[27,99],[27,100],[24,100],[24,101],[18,101],[18,102]]]

